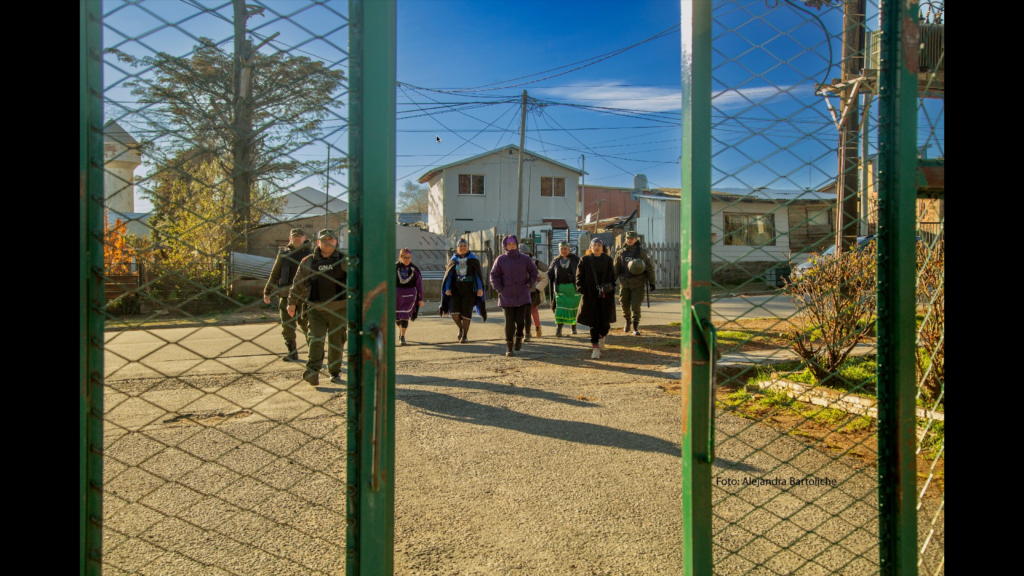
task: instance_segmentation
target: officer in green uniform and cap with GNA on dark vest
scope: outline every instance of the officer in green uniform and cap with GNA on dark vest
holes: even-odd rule
[[[322,230],[316,235],[313,253],[302,258],[295,282],[288,294],[288,314],[295,316],[295,307],[303,299],[306,301],[306,318],[309,321],[309,359],[302,379],[310,385],[319,385],[319,370],[324,365],[324,340],[328,344],[328,372],[331,381],[344,383],[341,379],[342,351],[347,335],[348,262],[345,254],[338,249],[338,239],[330,230]]]

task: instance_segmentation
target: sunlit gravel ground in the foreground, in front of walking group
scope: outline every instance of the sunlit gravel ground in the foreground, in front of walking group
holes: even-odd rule
[[[488,325],[397,352],[395,574],[679,574],[672,351],[613,336],[592,361],[581,334],[505,358]],[[344,389],[300,370],[108,381],[104,574],[344,573]],[[872,468],[717,424],[719,478],[839,482],[714,488],[717,573],[877,572]]]

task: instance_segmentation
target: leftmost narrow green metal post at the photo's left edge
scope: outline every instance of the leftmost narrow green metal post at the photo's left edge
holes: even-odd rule
[[[79,2],[79,573],[102,569],[102,5]]]

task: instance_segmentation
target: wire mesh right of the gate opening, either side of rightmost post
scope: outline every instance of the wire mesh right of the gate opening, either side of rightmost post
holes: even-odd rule
[[[713,7],[716,573],[880,570],[879,10],[873,0]],[[923,146],[941,139],[941,122],[929,122],[941,120],[934,99],[922,98]],[[931,212],[919,206],[919,319],[933,323],[919,349],[939,351],[919,355],[920,548],[930,574],[941,573],[944,525],[935,476],[941,396],[925,384],[941,381],[928,372],[941,371],[942,215],[934,202]]]

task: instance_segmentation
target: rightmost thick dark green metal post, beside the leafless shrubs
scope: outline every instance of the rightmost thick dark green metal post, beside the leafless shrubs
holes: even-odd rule
[[[918,573],[914,252],[918,2],[885,2],[879,98],[879,523],[882,574]]]

